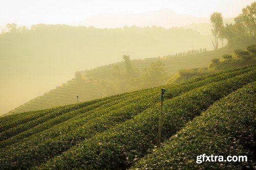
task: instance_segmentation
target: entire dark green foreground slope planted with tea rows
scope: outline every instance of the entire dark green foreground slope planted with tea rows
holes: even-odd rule
[[[79,110],[72,104],[1,117],[0,167],[124,169],[173,166],[161,164],[157,159],[178,164],[177,167],[193,167],[196,166],[193,156],[198,154],[197,146],[200,153],[212,151],[216,155],[248,156],[246,164],[219,163],[215,164],[217,169],[252,167],[255,74],[256,66],[253,65],[220,71],[183,84],[162,86],[168,92],[164,94],[163,147],[159,150],[155,145],[161,87],[82,102]],[[200,125],[202,128],[197,128]],[[225,131],[221,132],[223,129]],[[210,149],[205,136],[213,138],[208,140]],[[181,140],[200,144],[186,145]],[[172,148],[175,143],[180,148]],[[166,152],[178,154],[172,159]],[[189,159],[181,159],[184,152]],[[147,161],[152,164],[144,164]],[[210,165],[206,162],[198,166]]]

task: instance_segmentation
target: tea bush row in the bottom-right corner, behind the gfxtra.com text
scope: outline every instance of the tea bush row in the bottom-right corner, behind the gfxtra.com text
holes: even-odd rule
[[[256,82],[212,105],[164,147],[139,160],[132,169],[246,169],[253,168]],[[255,150],[254,150],[255,151]],[[248,162],[201,162],[197,156],[246,155]],[[255,156],[255,155],[254,155]],[[202,160],[202,158],[201,158]]]

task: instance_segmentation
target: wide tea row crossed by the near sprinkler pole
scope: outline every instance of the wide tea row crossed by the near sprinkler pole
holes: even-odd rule
[[[255,81],[256,71],[250,71],[228,80],[204,85],[174,99],[166,100],[163,114],[163,139],[167,139],[187,122],[206,110],[215,101],[233,90]],[[67,152],[36,168],[102,169],[126,168],[134,158],[154,149],[158,108],[155,105],[141,114],[108,131],[80,142]]]

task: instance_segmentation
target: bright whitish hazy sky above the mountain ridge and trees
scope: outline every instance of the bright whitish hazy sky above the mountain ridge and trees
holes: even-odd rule
[[[141,13],[169,8],[180,14],[235,17],[253,0],[0,0],[0,25],[72,23],[99,13]]]

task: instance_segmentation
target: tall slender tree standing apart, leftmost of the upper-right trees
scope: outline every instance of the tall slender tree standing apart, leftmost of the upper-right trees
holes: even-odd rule
[[[212,44],[214,45],[215,49],[218,49],[218,39],[219,39],[219,34],[221,31],[221,28],[223,27],[223,17],[221,13],[215,12],[212,13],[210,16],[210,21],[212,24],[212,29],[211,29],[211,33],[212,35],[214,35],[215,40],[212,41]]]

